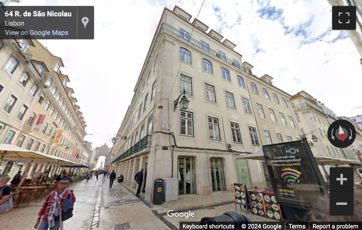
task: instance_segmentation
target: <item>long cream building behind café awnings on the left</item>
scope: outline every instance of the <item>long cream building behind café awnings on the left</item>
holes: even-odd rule
[[[1,143],[73,162],[79,159],[87,125],[61,67],[62,59],[37,40],[0,41]],[[32,164],[29,176],[43,166]],[[0,169],[11,168],[13,174],[21,167],[21,162],[2,162]]]

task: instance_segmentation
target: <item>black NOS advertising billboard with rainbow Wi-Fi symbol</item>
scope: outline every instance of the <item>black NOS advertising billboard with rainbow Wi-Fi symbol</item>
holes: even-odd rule
[[[304,141],[263,146],[274,195],[280,203],[313,208],[325,185]]]

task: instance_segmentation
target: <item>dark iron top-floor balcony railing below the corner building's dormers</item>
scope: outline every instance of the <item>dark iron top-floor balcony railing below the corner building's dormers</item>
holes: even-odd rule
[[[219,58],[220,60],[223,60],[224,62],[232,65],[233,67],[247,73],[246,69],[244,67],[240,66],[240,63],[235,63],[233,60],[220,55],[219,52],[211,49],[210,47],[206,47],[205,45],[202,45],[201,42],[195,40],[194,38],[187,36],[184,33],[180,33],[180,30],[172,27],[171,25],[163,22],[161,28],[168,30],[172,34],[177,35],[179,38],[184,39],[185,41],[189,41],[189,44],[192,44],[193,46],[197,47],[198,49],[203,50],[206,53],[209,53],[211,55],[214,55],[215,57]]]

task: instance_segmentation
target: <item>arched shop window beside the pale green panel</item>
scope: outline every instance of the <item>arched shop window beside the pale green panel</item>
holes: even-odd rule
[[[226,191],[222,158],[210,158],[212,191]]]

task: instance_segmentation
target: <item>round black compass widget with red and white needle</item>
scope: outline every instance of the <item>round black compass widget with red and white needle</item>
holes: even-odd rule
[[[356,129],[346,120],[334,121],[328,128],[328,140],[337,148],[346,148],[354,142]]]

